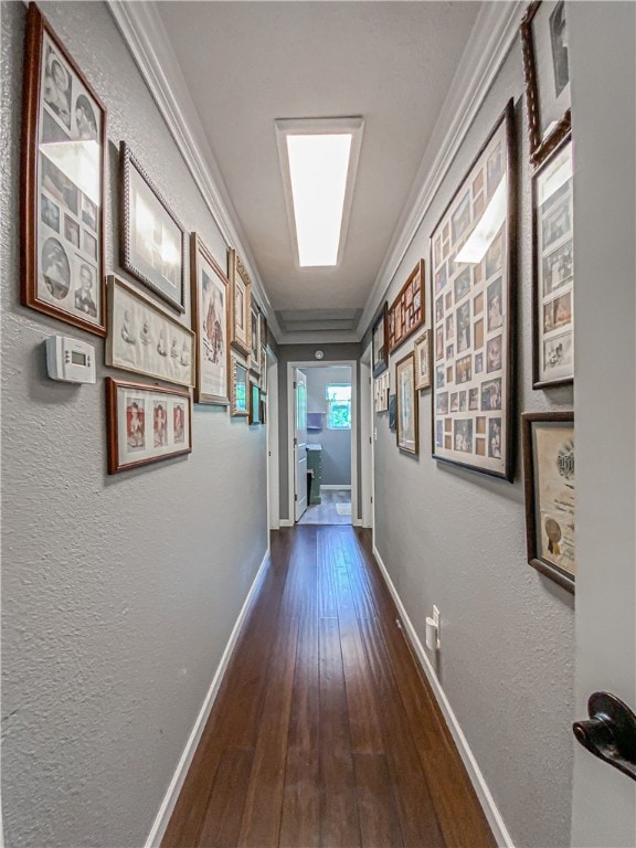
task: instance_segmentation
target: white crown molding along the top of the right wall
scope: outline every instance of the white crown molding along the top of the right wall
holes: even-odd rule
[[[527,0],[483,3],[470,32],[468,49],[462,56],[413,180],[414,188],[395,226],[392,246],[380,267],[358,322],[359,338],[363,338],[371,326],[400,263],[439,190],[442,180],[510,52],[527,4]]]

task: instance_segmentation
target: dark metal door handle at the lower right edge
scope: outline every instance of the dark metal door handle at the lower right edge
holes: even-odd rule
[[[587,721],[575,721],[574,735],[583,748],[636,781],[636,716],[615,695],[594,692]]]

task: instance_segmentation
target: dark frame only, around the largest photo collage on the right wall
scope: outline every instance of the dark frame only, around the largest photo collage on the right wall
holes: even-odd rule
[[[506,458],[504,462],[504,471],[495,471],[489,468],[483,468],[478,465],[471,465],[470,463],[464,463],[459,462],[458,459],[451,459],[449,457],[439,456],[435,453],[436,444],[435,444],[435,414],[436,414],[436,393],[437,393],[437,385],[436,385],[436,360],[435,360],[435,350],[433,350],[432,353],[432,364],[431,364],[431,383],[433,386],[433,399],[431,404],[431,416],[432,416],[432,434],[431,434],[431,443],[432,443],[432,455],[433,457],[439,462],[439,463],[447,463],[449,465],[456,465],[462,468],[468,468],[474,471],[479,471],[480,474],[487,474],[491,477],[497,477],[500,479],[508,480],[508,483],[512,483],[515,477],[515,466],[516,466],[516,455],[515,455],[515,447],[517,444],[517,432],[516,432],[516,328],[517,328],[517,182],[518,182],[518,172],[517,172],[517,139],[516,139],[516,132],[515,132],[515,102],[512,98],[508,100],[506,104],[506,107],[504,108],[504,112],[499,115],[497,120],[495,121],[495,125],[490,132],[488,134],[486,140],[479,148],[479,151],[470,162],[470,166],[466,170],[463,179],[460,180],[457,190],[453,193],[453,197],[451,198],[449,203],[446,205],[446,209],[439,216],[439,220],[437,221],[436,225],[433,227],[433,233],[431,235],[431,298],[432,303],[435,303],[435,261],[434,261],[434,237],[437,234],[437,230],[444,219],[446,218],[447,213],[449,212],[451,208],[462,193],[462,191],[465,188],[465,184],[467,183],[468,179],[470,178],[470,174],[473,172],[473,169],[488,148],[488,145],[492,140],[494,136],[497,134],[501,125],[505,125],[506,127],[506,149],[507,149],[507,160],[506,160],[506,168],[508,170],[508,195],[507,195],[507,219],[506,219],[506,225],[507,225],[507,253],[506,253],[506,262],[507,262],[507,285],[508,285],[508,299],[507,299],[507,316],[506,321],[504,322],[501,330],[502,333],[507,333],[508,344],[507,344],[507,356],[505,360],[505,365],[502,365],[501,371],[501,381],[504,384],[504,381],[506,381],[506,406],[501,409],[501,417],[506,416],[506,441],[502,445],[502,451],[506,451]],[[486,316],[486,306],[484,315]],[[436,321],[435,321],[436,324]],[[434,326],[435,326],[434,324]],[[432,331],[433,335],[433,331]],[[433,335],[434,338],[434,335]]]

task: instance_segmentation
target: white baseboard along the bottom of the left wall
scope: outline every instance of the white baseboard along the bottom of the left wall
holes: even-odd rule
[[[241,633],[241,627],[243,626],[245,617],[247,616],[247,610],[250,608],[252,598],[254,597],[256,591],[258,590],[258,585],[261,583],[261,579],[265,571],[265,565],[267,564],[268,559],[269,559],[269,548],[267,548],[267,550],[265,551],[265,555],[263,556],[263,561],[258,566],[256,576],[252,582],[250,592],[247,592],[247,597],[245,598],[245,602],[241,607],[241,612],[239,613],[239,617],[236,618],[236,623],[232,628],[232,633],[230,634],[230,638],[227,639],[227,645],[225,645],[225,650],[223,651],[221,661],[219,662],[219,666],[216,668],[212,682],[210,683],[210,689],[208,690],[208,695],[205,696],[205,699],[203,700],[203,704],[199,710],[199,716],[197,717],[194,727],[192,728],[188,742],[186,743],[186,748],[183,749],[181,757],[179,759],[179,763],[177,764],[177,768],[174,770],[174,774],[172,775],[170,785],[168,786],[166,795],[163,796],[163,801],[161,802],[161,806],[159,807],[157,817],[152,823],[152,827],[150,828],[150,833],[148,834],[144,848],[159,848],[161,839],[163,838],[163,834],[166,833],[166,828],[168,827],[168,823],[170,822],[170,816],[172,815],[172,810],[174,809],[174,805],[177,804],[177,798],[179,797],[179,793],[181,792],[181,787],[183,786],[186,776],[188,775],[188,770],[190,768],[190,765],[194,757],[194,753],[197,751],[199,742],[201,741],[203,730],[205,729],[208,718],[210,717],[210,711],[212,710],[212,704],[214,703],[216,699],[216,695],[219,693],[221,681],[223,680],[225,669],[227,668],[227,664],[230,662],[232,651],[234,650],[234,647],[236,645],[236,639],[239,638],[239,634]]]

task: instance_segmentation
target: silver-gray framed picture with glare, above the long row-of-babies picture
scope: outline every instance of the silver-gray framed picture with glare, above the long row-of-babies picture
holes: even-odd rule
[[[186,311],[186,230],[126,141],[119,144],[121,267]]]

